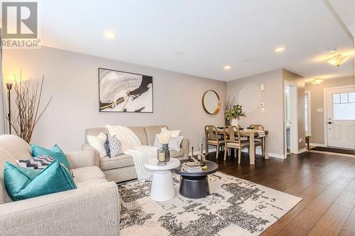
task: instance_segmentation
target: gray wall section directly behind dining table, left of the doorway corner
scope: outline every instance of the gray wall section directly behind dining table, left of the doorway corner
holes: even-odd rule
[[[261,84],[265,84],[265,91],[261,91]],[[255,87],[255,89],[252,89]],[[241,89],[251,88],[248,98],[244,100]],[[244,94],[244,91],[242,92]],[[256,74],[243,79],[228,82],[227,94],[235,96],[237,102],[248,107],[246,117],[239,120],[239,124],[247,127],[251,124],[262,124],[269,131],[269,152],[283,155],[283,81],[282,69],[263,74]],[[243,100],[241,102],[241,100]],[[265,112],[261,111],[259,103],[266,103]]]

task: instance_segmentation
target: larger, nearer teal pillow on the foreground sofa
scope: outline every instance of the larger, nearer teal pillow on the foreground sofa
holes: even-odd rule
[[[77,189],[69,170],[57,161],[43,170],[17,167],[5,162],[4,182],[13,201]]]

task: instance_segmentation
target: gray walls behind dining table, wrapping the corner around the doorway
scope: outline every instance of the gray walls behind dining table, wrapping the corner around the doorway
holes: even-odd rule
[[[241,126],[262,124],[269,131],[269,152],[271,156],[280,157],[285,154],[285,125],[284,125],[284,81],[297,84],[297,110],[298,110],[298,138],[303,142],[298,144],[298,149],[305,147],[305,105],[304,78],[286,69],[276,69],[271,72],[256,74],[243,79],[228,82],[228,96],[235,96],[238,103],[246,109],[246,118],[241,118]],[[261,91],[264,84],[265,91]],[[245,91],[248,90],[248,92]],[[246,98],[246,99],[245,99]],[[260,103],[265,103],[262,111]]]

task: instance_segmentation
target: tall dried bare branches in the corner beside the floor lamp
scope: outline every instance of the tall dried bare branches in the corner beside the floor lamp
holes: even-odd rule
[[[44,76],[31,86],[31,79],[22,80],[22,73],[13,76],[15,78],[14,91],[16,95],[16,112],[11,111],[11,127],[18,137],[26,142],[31,142],[33,129],[38,120],[42,117],[45,109],[48,108],[52,97],[46,103],[42,111],[39,111],[40,99],[42,96]],[[8,119],[9,120],[9,119]]]

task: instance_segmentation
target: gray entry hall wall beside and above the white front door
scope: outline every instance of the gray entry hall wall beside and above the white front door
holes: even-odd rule
[[[324,89],[354,84],[354,77],[325,79],[319,85],[305,84],[305,91],[311,92],[311,134],[310,142],[324,144],[324,113],[317,112],[317,108],[324,108]]]

